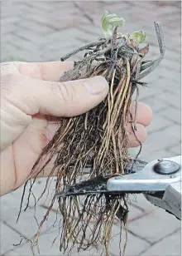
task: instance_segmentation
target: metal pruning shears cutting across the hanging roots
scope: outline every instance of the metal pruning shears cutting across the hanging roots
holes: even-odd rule
[[[112,178],[98,176],[84,180],[61,191],[57,197],[98,193],[142,193],[151,204],[181,219],[181,155],[152,160],[149,163],[131,159],[127,169],[128,175]],[[132,173],[129,170],[132,170]]]

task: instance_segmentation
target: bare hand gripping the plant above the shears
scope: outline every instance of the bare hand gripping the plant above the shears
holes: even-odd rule
[[[1,63],[0,194],[17,189],[26,181],[58,128],[53,116],[77,116],[107,96],[108,83],[102,76],[60,83],[61,74],[72,67],[72,62]],[[131,111],[133,114],[134,105]],[[146,140],[151,117],[151,109],[140,103],[136,136],[141,142]],[[132,131],[131,127],[128,130]],[[130,145],[138,145],[132,132]],[[49,170],[44,175],[49,175]]]

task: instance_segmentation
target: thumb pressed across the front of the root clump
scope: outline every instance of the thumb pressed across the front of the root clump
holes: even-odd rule
[[[36,80],[35,85],[31,81],[30,90],[29,97],[32,96],[36,104],[35,108],[31,104],[31,113],[26,114],[78,116],[103,101],[108,94],[108,82],[103,76],[65,82]]]

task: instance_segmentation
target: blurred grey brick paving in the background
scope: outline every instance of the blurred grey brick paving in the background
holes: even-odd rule
[[[100,35],[100,17],[103,10],[117,12],[126,19],[123,31],[143,29],[150,42],[151,58],[159,54],[154,21],[163,24],[167,51],[165,60],[145,81],[149,88],[141,89],[140,99],[154,111],[154,120],[148,129],[148,140],[143,145],[141,159],[180,155],[180,1],[158,2],[1,2],[1,62],[19,60],[45,62],[60,57],[75,47],[92,42]],[[80,58],[80,55],[77,57]],[[136,150],[132,150],[134,154]],[[37,181],[35,194],[41,193],[45,180]],[[51,187],[50,187],[51,189]],[[36,232],[34,209],[22,214],[16,224],[22,188],[1,199],[1,254],[31,255],[30,242]],[[36,218],[41,220],[48,205],[41,200]],[[33,200],[31,202],[33,205]],[[60,255],[58,234],[47,229],[55,221],[52,211],[40,239],[40,255]],[[157,209],[143,196],[131,198],[127,256],[180,255],[180,221]],[[59,216],[58,216],[59,219]],[[117,233],[117,224],[114,232]],[[22,244],[18,244],[21,237]],[[118,237],[111,245],[111,256],[117,256]],[[99,255],[87,252],[79,255]],[[72,255],[78,255],[73,253]]]

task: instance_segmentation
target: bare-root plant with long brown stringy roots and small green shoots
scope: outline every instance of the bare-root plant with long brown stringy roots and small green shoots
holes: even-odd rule
[[[106,19],[108,13],[104,15]],[[107,24],[104,15],[103,23]],[[91,166],[88,179],[98,176],[108,179],[114,175],[125,175],[127,172],[127,125],[132,121],[132,95],[136,90],[137,108],[139,86],[146,85],[141,79],[159,64],[164,57],[165,46],[161,25],[155,22],[160,57],[154,61],[144,61],[149,46],[140,47],[140,43],[145,40],[145,34],[140,31],[132,35],[120,35],[117,32],[119,18],[114,17],[117,23],[114,26],[111,22],[113,32],[110,37],[100,38],[98,42],[90,43],[61,58],[65,61],[77,52],[86,50],[83,60],[74,62],[74,69],[66,71],[60,81],[103,76],[109,83],[109,92],[107,98],[93,110],[72,118],[60,118],[60,128],[36,161],[31,177],[43,172],[45,166],[56,156],[54,168],[45,185],[46,190],[51,175],[56,173],[55,194],[78,182],[79,176],[84,175],[84,169],[88,165]],[[136,116],[133,130],[136,130]],[[40,169],[40,161],[45,156],[47,160]],[[33,183],[34,181],[31,182],[31,187]],[[121,224],[126,224],[127,221],[127,195],[89,194],[59,198],[58,201],[63,216],[60,250],[65,253],[74,246],[77,246],[79,251],[102,245],[105,255],[108,256],[114,219],[117,216]],[[55,196],[39,225],[34,245],[54,202]]]

